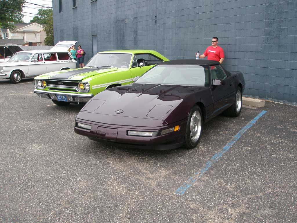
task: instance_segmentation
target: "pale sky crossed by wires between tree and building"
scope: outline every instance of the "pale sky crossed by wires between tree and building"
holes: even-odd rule
[[[53,3],[51,0],[26,0],[26,2],[28,2],[28,3],[24,4],[24,10],[23,10],[23,15],[24,15],[23,21],[25,23],[29,23],[30,20],[34,17],[34,15],[28,14],[26,12],[37,14],[38,9],[47,9],[44,7],[40,7],[38,5],[52,7],[52,3]],[[34,3],[34,4],[38,4],[38,5],[33,5],[30,3]]]

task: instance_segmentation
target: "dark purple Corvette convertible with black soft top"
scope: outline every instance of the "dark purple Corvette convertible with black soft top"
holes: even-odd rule
[[[194,148],[205,122],[222,112],[241,112],[244,77],[217,61],[166,61],[137,78],[92,98],[78,113],[74,131],[137,148]]]

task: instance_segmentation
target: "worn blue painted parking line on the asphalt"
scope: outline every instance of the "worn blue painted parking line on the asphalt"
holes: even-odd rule
[[[234,137],[231,139],[227,145],[223,147],[221,151],[216,153],[209,161],[206,162],[205,167],[200,170],[200,172],[196,172],[194,176],[190,177],[187,182],[185,182],[181,187],[179,187],[176,191],[175,194],[177,195],[183,195],[187,189],[189,189],[193,183],[197,181],[197,178],[201,178],[203,174],[215,163],[218,161],[218,159],[226,153],[229,148],[244,134],[251,126],[267,111],[262,111],[260,114],[258,114],[253,120],[251,120],[246,126],[244,126]],[[198,176],[198,177],[197,177]]]

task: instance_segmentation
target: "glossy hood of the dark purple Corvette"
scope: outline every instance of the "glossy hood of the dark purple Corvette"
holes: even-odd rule
[[[202,91],[204,88],[168,84],[132,84],[115,87],[96,95],[81,112],[161,119],[168,123],[168,116],[183,109],[183,102],[192,92]],[[183,115],[170,118],[170,123],[184,119],[186,114],[187,112],[184,112]],[[78,116],[82,118],[81,115]],[[91,118],[88,114],[86,116]],[[91,121],[100,122],[100,120]]]

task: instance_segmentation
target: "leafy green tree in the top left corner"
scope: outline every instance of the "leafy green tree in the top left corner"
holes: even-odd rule
[[[25,0],[0,0],[0,27],[14,30],[13,23],[23,22]]]

